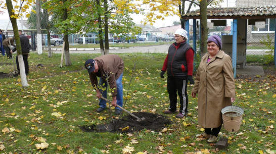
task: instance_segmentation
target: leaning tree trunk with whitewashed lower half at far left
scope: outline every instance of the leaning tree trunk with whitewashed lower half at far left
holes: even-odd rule
[[[16,22],[16,18],[11,18],[12,15],[14,15],[14,13],[12,12],[13,10],[13,4],[11,0],[6,0],[7,3],[7,9],[9,12],[9,16],[10,16],[10,20],[13,26],[13,31],[14,31],[14,36],[15,36],[15,41],[17,43],[16,46],[16,50],[17,50],[17,57],[18,57],[18,63],[19,63],[19,68],[20,68],[20,78],[21,78],[21,84],[23,87],[27,87],[28,82],[27,82],[27,78],[26,78],[26,72],[25,72],[25,65],[24,65],[24,61],[23,61],[23,56],[22,56],[22,49],[21,49],[21,42],[20,42],[20,37],[19,37],[19,33],[18,33],[18,27],[17,27],[17,22]]]

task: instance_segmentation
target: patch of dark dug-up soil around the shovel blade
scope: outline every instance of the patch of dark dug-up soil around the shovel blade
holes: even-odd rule
[[[111,121],[108,124],[104,125],[90,125],[90,126],[80,126],[80,129],[84,132],[137,132],[143,129],[151,131],[160,131],[168,125],[171,124],[171,121],[165,116],[152,114],[147,112],[137,112],[132,113],[137,117],[144,117],[145,120],[137,122],[136,118],[131,117],[130,115],[122,117],[120,120]],[[128,126],[128,127],[127,127]],[[125,128],[125,130],[122,130]]]

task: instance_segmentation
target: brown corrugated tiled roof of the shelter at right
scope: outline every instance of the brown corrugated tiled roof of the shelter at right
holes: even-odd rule
[[[200,10],[183,14],[182,19],[199,19]],[[263,19],[276,18],[276,6],[207,8],[207,19]]]

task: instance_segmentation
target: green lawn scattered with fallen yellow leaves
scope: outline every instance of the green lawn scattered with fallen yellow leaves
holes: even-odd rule
[[[166,54],[118,54],[125,62],[123,76],[124,95],[129,86],[130,98],[126,107],[129,111],[156,109],[156,114],[169,107],[166,92],[166,78],[160,78]],[[98,114],[96,92],[91,87],[83,64],[86,59],[99,54],[70,54],[72,66],[59,67],[61,55],[47,53],[29,57],[30,74],[28,87],[22,87],[20,76],[0,78],[0,153],[122,153],[128,144],[134,147],[132,153],[260,153],[275,152],[275,77],[267,76],[260,82],[236,80],[236,100],[234,105],[244,109],[243,122],[239,132],[221,130],[220,137],[228,138],[228,150],[216,151],[206,140],[198,141],[196,134],[202,133],[197,125],[197,98],[189,92],[189,116],[176,119],[166,132],[142,130],[130,134],[82,132],[79,126],[104,124],[111,120],[108,110]],[[1,72],[13,71],[13,63],[0,57]],[[43,67],[36,67],[42,64]],[[65,64],[64,64],[65,65]],[[133,78],[130,82],[132,73]],[[137,108],[133,108],[135,106]],[[114,111],[114,110],[113,110]],[[65,114],[62,118],[53,113]],[[127,115],[124,113],[124,115]],[[99,117],[106,117],[100,120]],[[167,116],[167,115],[166,115]],[[191,126],[183,126],[183,122]],[[8,128],[10,132],[6,132]],[[13,131],[13,129],[20,131]],[[47,139],[48,148],[38,150],[38,137]],[[187,137],[188,139],[185,139]],[[190,137],[190,138],[189,138]],[[131,139],[139,143],[131,144]],[[121,141],[119,141],[121,140]],[[119,141],[119,143],[115,143]],[[3,142],[3,144],[1,144]],[[193,144],[195,143],[195,145]],[[58,150],[57,146],[63,147]]]

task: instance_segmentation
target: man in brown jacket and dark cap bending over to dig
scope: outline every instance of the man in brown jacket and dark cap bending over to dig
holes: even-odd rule
[[[123,106],[123,60],[117,55],[103,55],[87,60],[84,67],[87,69],[91,84],[97,92],[96,96],[100,99],[100,108],[97,112],[101,113],[106,109],[106,100],[101,99],[101,95],[107,98],[108,83],[111,89],[112,106],[115,107],[115,114],[119,115],[122,110],[116,106]],[[100,77],[99,83],[97,77]]]

